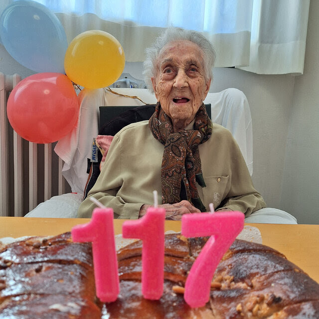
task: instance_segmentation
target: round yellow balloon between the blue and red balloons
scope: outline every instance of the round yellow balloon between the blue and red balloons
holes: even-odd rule
[[[120,42],[101,30],[85,31],[69,44],[64,70],[74,83],[97,89],[114,83],[122,74],[125,54]]]

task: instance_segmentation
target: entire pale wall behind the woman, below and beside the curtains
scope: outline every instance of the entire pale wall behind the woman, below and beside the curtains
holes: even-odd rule
[[[254,138],[255,187],[269,207],[284,209],[299,223],[319,224],[319,1],[311,1],[304,75],[257,75],[216,68],[211,92],[235,87],[249,101]],[[33,74],[0,44],[0,71]],[[142,78],[141,63],[124,72]]]

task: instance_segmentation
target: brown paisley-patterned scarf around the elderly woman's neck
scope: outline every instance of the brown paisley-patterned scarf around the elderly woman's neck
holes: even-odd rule
[[[194,130],[173,132],[170,118],[158,102],[149,121],[154,137],[164,145],[161,164],[162,202],[178,203],[187,199],[200,211],[206,211],[195,181],[205,187],[198,145],[206,142],[212,132],[212,123],[202,104],[196,113]],[[185,198],[183,198],[185,197]]]

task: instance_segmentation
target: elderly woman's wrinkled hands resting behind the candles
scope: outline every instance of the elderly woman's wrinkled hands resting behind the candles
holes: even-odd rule
[[[148,208],[150,208],[151,206],[152,205],[144,204],[140,209],[139,217],[144,216]],[[200,210],[194,207],[187,200],[182,200],[179,203],[175,203],[175,204],[161,204],[158,207],[164,208],[166,210],[165,219],[170,219],[170,220],[180,220],[183,214],[200,213]]]

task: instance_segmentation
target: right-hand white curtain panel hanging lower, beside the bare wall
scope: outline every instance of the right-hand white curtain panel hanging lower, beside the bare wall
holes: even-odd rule
[[[254,0],[250,61],[258,74],[302,74],[310,0]]]

